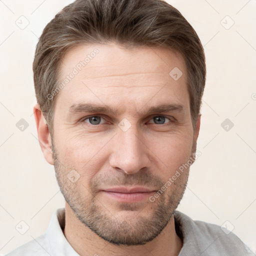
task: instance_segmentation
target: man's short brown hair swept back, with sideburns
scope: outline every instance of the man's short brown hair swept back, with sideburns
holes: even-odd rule
[[[181,53],[193,126],[205,85],[205,56],[195,30],[163,0],[76,0],[45,26],[36,45],[33,78],[37,103],[53,131],[54,102],[64,54],[80,43],[115,42],[122,47],[164,46]]]

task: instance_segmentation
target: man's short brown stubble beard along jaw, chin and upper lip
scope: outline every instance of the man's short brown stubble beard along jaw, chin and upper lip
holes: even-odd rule
[[[89,188],[85,188],[81,183],[74,185],[66,177],[68,170],[60,164],[61,159],[58,160],[59,157],[53,141],[52,152],[58,185],[77,219],[104,240],[118,246],[145,244],[159,235],[168,224],[186,188],[189,169],[186,173],[182,173],[180,175],[182,178],[179,176],[154,202],[148,200],[144,203],[144,207],[141,207],[140,202],[115,204],[119,210],[125,211],[123,215],[125,217],[116,217],[107,209],[104,202],[96,196],[98,180],[94,180],[95,182],[92,182]],[[140,185],[157,184],[154,187],[159,187],[159,189],[164,184],[159,178],[157,179],[157,177],[147,172],[140,172],[138,174],[139,178],[136,177],[135,179],[132,175],[126,175],[122,179],[118,178],[118,182],[115,184],[129,185],[134,184],[134,180],[137,180],[141,181],[137,183]],[[120,182],[120,180],[123,180],[123,182]],[[145,211],[150,212],[148,207],[151,213],[146,216],[141,214]],[[143,211],[143,209],[146,210]],[[127,215],[128,210],[131,211],[130,217]]]

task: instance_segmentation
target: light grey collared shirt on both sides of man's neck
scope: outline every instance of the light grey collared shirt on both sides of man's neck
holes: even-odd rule
[[[255,256],[232,232],[224,232],[220,226],[192,220],[180,211],[175,211],[175,230],[183,239],[178,256]],[[50,219],[46,232],[6,256],[79,256],[63,234],[65,209],[57,209]]]

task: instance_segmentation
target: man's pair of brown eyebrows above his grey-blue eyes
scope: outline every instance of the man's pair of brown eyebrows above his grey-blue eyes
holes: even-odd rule
[[[142,107],[143,108],[143,107]],[[156,106],[150,106],[147,110],[140,110],[141,114],[152,114],[155,112],[171,112],[171,111],[183,111],[184,107],[181,104],[160,104]],[[80,113],[80,112],[91,112],[91,113],[111,113],[113,115],[120,114],[120,110],[113,109],[108,105],[97,105],[91,103],[75,103],[69,107],[69,114]]]

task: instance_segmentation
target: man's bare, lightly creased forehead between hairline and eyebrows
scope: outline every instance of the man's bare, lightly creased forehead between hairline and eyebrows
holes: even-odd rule
[[[66,107],[86,100],[124,105],[143,104],[150,97],[152,103],[188,98],[184,60],[163,47],[77,45],[63,57],[59,83],[57,101]]]

